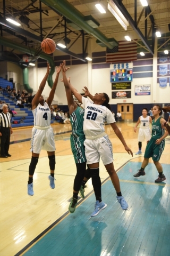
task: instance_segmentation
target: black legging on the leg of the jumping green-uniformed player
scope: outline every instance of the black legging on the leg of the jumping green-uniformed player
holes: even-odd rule
[[[81,183],[86,173],[86,162],[76,164],[76,167],[77,167],[77,174],[75,175],[73,189],[74,191],[79,191],[81,188]]]

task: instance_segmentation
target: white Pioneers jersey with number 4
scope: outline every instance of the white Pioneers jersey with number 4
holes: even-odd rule
[[[39,103],[37,108],[32,110],[32,113],[34,117],[34,125],[40,127],[50,126],[51,115],[47,102],[44,102],[44,106]]]

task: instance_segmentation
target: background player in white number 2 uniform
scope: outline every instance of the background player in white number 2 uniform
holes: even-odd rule
[[[149,141],[151,138],[151,131],[149,128],[149,123],[152,123],[152,118],[147,115],[148,114],[148,109],[143,108],[142,109],[142,116],[139,117],[138,122],[134,126],[134,132],[137,132],[137,127],[140,123],[140,128],[139,128],[139,133],[138,133],[138,146],[139,150],[136,153],[136,155],[141,155],[142,154],[142,141]]]

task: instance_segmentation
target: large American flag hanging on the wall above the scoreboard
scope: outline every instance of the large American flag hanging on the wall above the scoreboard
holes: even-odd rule
[[[120,41],[113,49],[106,49],[107,63],[131,62],[137,60],[137,43]]]

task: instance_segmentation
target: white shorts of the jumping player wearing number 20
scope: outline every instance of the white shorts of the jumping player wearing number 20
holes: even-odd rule
[[[100,157],[104,165],[113,162],[113,148],[108,135],[95,140],[86,139],[84,146],[87,164],[99,163]]]

